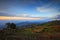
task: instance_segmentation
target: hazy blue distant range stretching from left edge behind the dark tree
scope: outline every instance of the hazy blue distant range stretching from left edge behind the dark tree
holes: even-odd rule
[[[17,20],[15,22],[13,20],[11,20],[11,21],[9,21],[9,20],[2,21],[1,20],[2,23],[0,23],[0,28],[6,27],[5,23],[7,23],[7,22],[13,22],[17,26],[25,26],[25,25],[31,25],[31,24],[42,24],[42,23],[45,23],[45,22],[48,22],[48,21],[52,21],[52,20],[50,20],[50,19],[46,19],[46,20],[30,20],[30,21],[19,21],[19,20]]]

